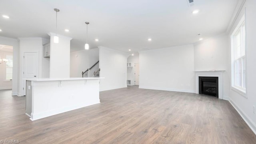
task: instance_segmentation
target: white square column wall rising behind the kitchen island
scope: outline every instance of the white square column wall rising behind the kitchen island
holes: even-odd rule
[[[50,78],[70,77],[70,40],[67,36],[59,37],[59,43],[54,43],[55,33],[50,35]]]

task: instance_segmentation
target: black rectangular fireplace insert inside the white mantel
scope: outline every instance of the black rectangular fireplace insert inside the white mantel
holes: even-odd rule
[[[199,94],[219,97],[218,77],[199,76]]]

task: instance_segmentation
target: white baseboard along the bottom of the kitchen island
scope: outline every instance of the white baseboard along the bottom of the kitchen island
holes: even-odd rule
[[[100,99],[96,100],[96,101],[87,102],[86,104],[83,104],[83,105],[80,105],[80,106],[74,105],[74,106],[68,107],[68,108],[50,110],[50,111],[40,112],[40,113],[31,113],[30,120],[34,121],[34,120],[38,120],[38,119],[41,119],[41,118],[46,118],[48,116],[53,116],[53,115],[60,114],[60,113],[63,113],[63,112],[68,112],[68,111],[71,111],[71,110],[76,110],[78,108],[83,108],[85,106],[91,106],[91,105],[99,104],[99,103],[100,103]],[[27,115],[29,116],[29,114],[27,114]]]

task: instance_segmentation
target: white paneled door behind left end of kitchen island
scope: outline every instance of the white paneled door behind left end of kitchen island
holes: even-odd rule
[[[38,52],[24,52],[23,78],[38,77]],[[23,94],[26,95],[26,80],[23,81]]]

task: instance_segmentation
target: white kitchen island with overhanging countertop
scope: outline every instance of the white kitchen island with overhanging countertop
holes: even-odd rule
[[[26,115],[38,120],[100,103],[101,78],[31,78],[26,80]]]

